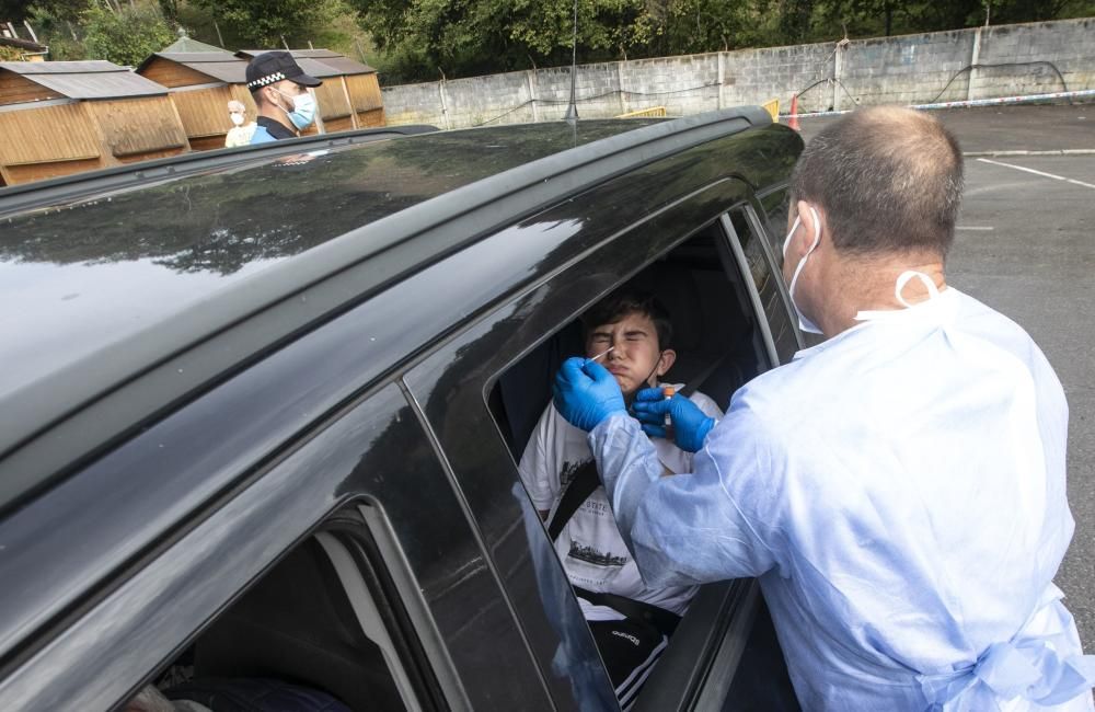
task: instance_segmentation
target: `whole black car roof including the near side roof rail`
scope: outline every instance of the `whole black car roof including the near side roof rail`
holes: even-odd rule
[[[747,107],[423,134],[289,160],[241,158],[184,177],[119,185],[115,172],[100,192],[92,179],[72,199],[62,186],[49,204],[7,215],[0,191],[9,306],[0,314],[0,507],[51,474],[9,456],[53,424],[272,305],[304,299],[350,265],[422,244],[379,285],[463,246],[466,231],[415,240],[437,226],[487,210],[484,230],[496,229],[613,174],[770,123]],[[198,378],[178,374],[180,383]]]

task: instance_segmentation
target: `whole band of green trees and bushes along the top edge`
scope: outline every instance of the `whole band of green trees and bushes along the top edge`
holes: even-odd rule
[[[1095,15],[1095,0],[578,0],[579,62]],[[132,65],[174,25],[229,49],[368,53],[385,83],[563,66],[574,0],[0,0],[53,59]],[[364,50],[362,50],[364,48]]]

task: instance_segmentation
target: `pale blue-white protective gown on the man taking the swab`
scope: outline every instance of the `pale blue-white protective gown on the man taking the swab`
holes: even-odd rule
[[[759,577],[805,710],[1092,710],[1067,426],[1030,337],[948,288],[742,387],[694,473],[630,417],[589,440],[647,585]]]

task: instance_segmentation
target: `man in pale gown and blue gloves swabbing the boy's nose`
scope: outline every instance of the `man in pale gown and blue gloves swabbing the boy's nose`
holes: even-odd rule
[[[961,187],[938,122],[857,111],[792,177],[784,276],[828,341],[717,423],[652,391],[635,420],[587,359],[556,379],[646,585],[757,576],[805,710],[1093,709],[1052,583],[1068,406],[1026,332],[946,284]],[[662,476],[666,413],[692,473]]]

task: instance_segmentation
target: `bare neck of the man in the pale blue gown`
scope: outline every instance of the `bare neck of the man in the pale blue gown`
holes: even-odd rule
[[[920,279],[910,279],[901,289],[902,303],[895,291],[898,277],[906,272],[927,276],[935,288],[946,288],[943,259],[932,252],[914,252],[872,257],[842,257],[827,261],[822,284],[828,287],[825,296],[825,317],[820,324],[827,336],[834,336],[856,324],[861,311],[891,311],[904,309],[931,299],[927,286]]]

